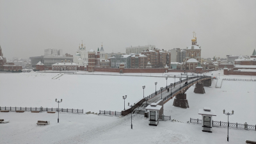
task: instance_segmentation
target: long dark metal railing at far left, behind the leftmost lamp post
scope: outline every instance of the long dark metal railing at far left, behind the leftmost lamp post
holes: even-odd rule
[[[84,113],[84,109],[63,109],[63,108],[41,108],[41,107],[1,107],[0,110],[4,111],[60,111],[60,112],[67,112],[67,113]]]

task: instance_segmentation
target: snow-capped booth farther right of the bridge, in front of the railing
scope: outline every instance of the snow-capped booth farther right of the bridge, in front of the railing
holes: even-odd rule
[[[216,116],[215,111],[204,107],[204,109],[199,109],[198,114],[202,115],[202,131],[212,132],[212,116]]]

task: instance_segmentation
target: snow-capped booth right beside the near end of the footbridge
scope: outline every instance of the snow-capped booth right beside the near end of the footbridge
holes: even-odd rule
[[[156,102],[152,102],[152,104],[147,106],[147,110],[149,111],[149,124],[148,125],[154,125],[157,126],[158,124],[158,117],[159,117],[159,110],[162,108],[162,106],[159,106],[156,104]]]

